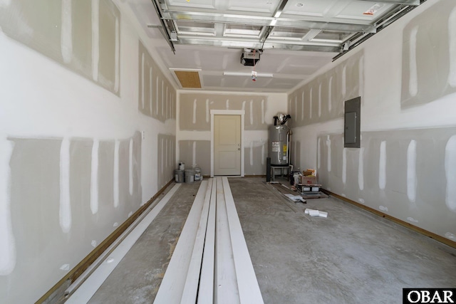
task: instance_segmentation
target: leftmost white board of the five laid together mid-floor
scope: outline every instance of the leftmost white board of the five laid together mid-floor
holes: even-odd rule
[[[201,182],[192,208],[185,221],[184,228],[177,241],[170,263],[163,277],[160,288],[155,296],[156,304],[177,304],[182,299],[187,273],[190,266],[193,247],[197,235],[199,219],[207,191],[207,181]],[[194,301],[195,303],[195,301]]]

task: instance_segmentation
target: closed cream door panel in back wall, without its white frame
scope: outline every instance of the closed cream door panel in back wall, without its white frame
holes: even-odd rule
[[[214,175],[241,175],[241,115],[214,115]]]

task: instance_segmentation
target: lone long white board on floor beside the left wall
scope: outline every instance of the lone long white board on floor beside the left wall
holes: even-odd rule
[[[170,201],[171,197],[177,192],[180,184],[176,184],[170,192],[168,192],[160,202],[150,209],[135,229],[125,237],[125,239],[113,250],[105,262],[103,262],[95,271],[86,279],[86,281],[66,300],[68,304],[80,304],[88,303],[90,298],[93,297],[95,292],[100,288],[103,282],[108,278],[111,272],[113,272],[115,266],[120,263],[120,260],[128,253],[130,248],[140,238],[145,229],[152,223],[157,214],[163,209],[163,207]]]

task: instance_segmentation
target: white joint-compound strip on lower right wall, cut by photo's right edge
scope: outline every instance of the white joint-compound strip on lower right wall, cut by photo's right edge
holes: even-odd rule
[[[450,137],[445,147],[445,177],[447,192],[445,203],[452,211],[456,211],[456,135]]]

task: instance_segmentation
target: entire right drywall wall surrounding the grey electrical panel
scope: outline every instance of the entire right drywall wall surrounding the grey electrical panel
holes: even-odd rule
[[[302,114],[294,98],[307,84],[289,95],[291,115],[304,117],[294,127],[301,167],[316,168],[324,188],[450,241],[456,241],[455,18],[455,1],[427,1],[309,82],[357,63],[358,73],[332,78],[336,87],[328,92],[331,98],[338,92],[340,105],[328,96],[318,103],[334,109],[361,96],[359,149],[343,148],[343,117],[318,115],[313,99]]]

